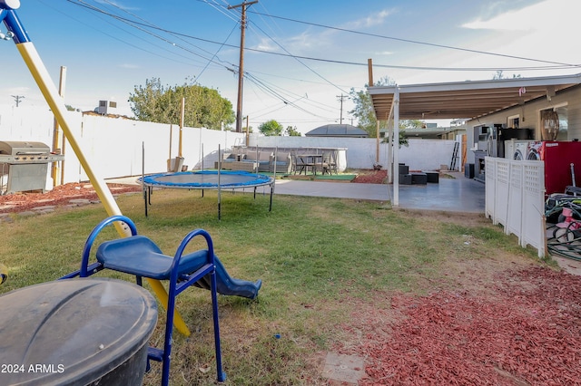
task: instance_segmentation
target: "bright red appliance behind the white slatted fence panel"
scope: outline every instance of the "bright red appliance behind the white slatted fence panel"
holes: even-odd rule
[[[531,142],[527,159],[545,162],[545,195],[565,193],[573,185],[571,165],[581,170],[581,142],[543,140]],[[578,173],[581,175],[581,173]]]

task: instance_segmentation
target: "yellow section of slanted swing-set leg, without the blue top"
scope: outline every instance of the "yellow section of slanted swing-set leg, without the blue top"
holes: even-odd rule
[[[111,190],[107,187],[104,183],[103,179],[98,179],[94,174],[91,165],[84,157],[83,151],[81,150],[78,142],[75,140],[73,132],[68,125],[68,122],[64,118],[64,111],[66,111],[66,107],[64,106],[64,101],[58,96],[58,92],[56,91],[56,87],[54,83],[51,81],[49,73],[46,71],[44,67],[44,63],[41,60],[40,56],[36,52],[36,48],[32,42],[25,42],[25,43],[17,43],[16,47],[18,52],[22,55],[23,59],[25,60],[26,66],[28,70],[32,73],[34,77],[34,81],[40,88],[40,91],[44,95],[44,99],[50,106],[51,110],[54,113],[54,117],[59,122],[61,128],[63,129],[64,135],[66,139],[69,141],[69,144],[74,150],[77,159],[83,165],[84,171],[87,173],[91,184],[93,185],[95,192],[103,202],[103,206],[107,211],[109,216],[113,215],[121,215],[121,209],[117,206],[115,199],[113,198],[113,194]],[[117,232],[121,236],[131,236],[129,229],[123,229],[121,224],[115,222],[115,228]],[[168,295],[165,291],[165,288],[158,280],[148,279],[149,284],[152,286],[153,292],[157,295],[160,299],[164,307],[167,307],[168,302]],[[188,329],[187,325],[183,322],[182,316],[176,311],[174,314],[174,326],[175,328],[182,334],[189,336],[190,330]]]

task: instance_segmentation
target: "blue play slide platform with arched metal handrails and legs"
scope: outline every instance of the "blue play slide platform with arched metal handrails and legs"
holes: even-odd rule
[[[120,221],[129,227],[132,236],[103,242],[97,248],[97,261],[89,264],[91,247],[94,244],[95,238],[104,227],[116,221]],[[185,247],[196,236],[204,237],[207,249],[183,255]],[[137,235],[137,229],[131,219],[124,216],[107,217],[94,227],[91,234],[87,237],[83,250],[81,269],[72,274],[65,275],[62,279],[76,276],[86,277],[103,269],[111,269],[135,275],[138,285],[142,285],[142,277],[169,281],[163,349],[160,350],[150,347],[148,350],[148,368],[149,360],[162,362],[163,386],[169,384],[175,297],[191,285],[200,286],[198,282],[208,283],[209,281],[210,285],[208,289],[212,294],[217,380],[221,382],[226,379],[226,375],[222,372],[216,261],[213,252],[212,237],[205,230],[193,230],[182,239],[182,243],[178,247],[175,256],[165,256],[162,250],[152,240],[145,236]],[[260,288],[260,283],[258,283],[258,288]],[[256,293],[258,292],[258,288],[256,288]]]

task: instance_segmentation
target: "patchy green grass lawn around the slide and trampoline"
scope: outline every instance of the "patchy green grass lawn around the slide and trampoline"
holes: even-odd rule
[[[426,294],[433,281],[453,285],[447,269],[454,261],[469,264],[499,251],[536,260],[535,252],[520,249],[513,236],[487,221],[463,224],[388,210],[376,202],[275,196],[269,212],[268,195],[253,199],[222,192],[218,220],[216,192],[206,191],[202,198],[199,191],[166,189],[155,191],[152,201],[149,217],[144,217],[140,194],[118,198],[139,233],[167,255],[173,255],[190,230],[201,227],[211,234],[230,275],[262,279],[255,300],[220,296],[223,362],[231,385],[325,384],[320,353],[344,339],[338,326],[349,323],[355,304],[366,304],[377,294]],[[13,223],[0,224],[0,263],[9,269],[0,293],[77,269],[85,238],[104,217],[103,207],[93,205],[15,216]],[[116,237],[111,227],[98,241]],[[389,307],[387,303],[373,306]],[[209,292],[187,290],[178,297],[178,310],[194,333],[187,339],[174,333],[171,384],[213,384],[214,368],[200,371],[207,363],[213,366]],[[152,339],[158,346],[161,326]],[[159,368],[153,364],[145,384],[158,383]]]

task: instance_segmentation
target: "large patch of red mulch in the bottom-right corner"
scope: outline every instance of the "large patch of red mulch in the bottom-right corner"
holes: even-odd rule
[[[581,385],[581,277],[534,267],[491,289],[399,294],[399,317],[359,315],[365,335],[346,348],[365,358],[359,385]]]

